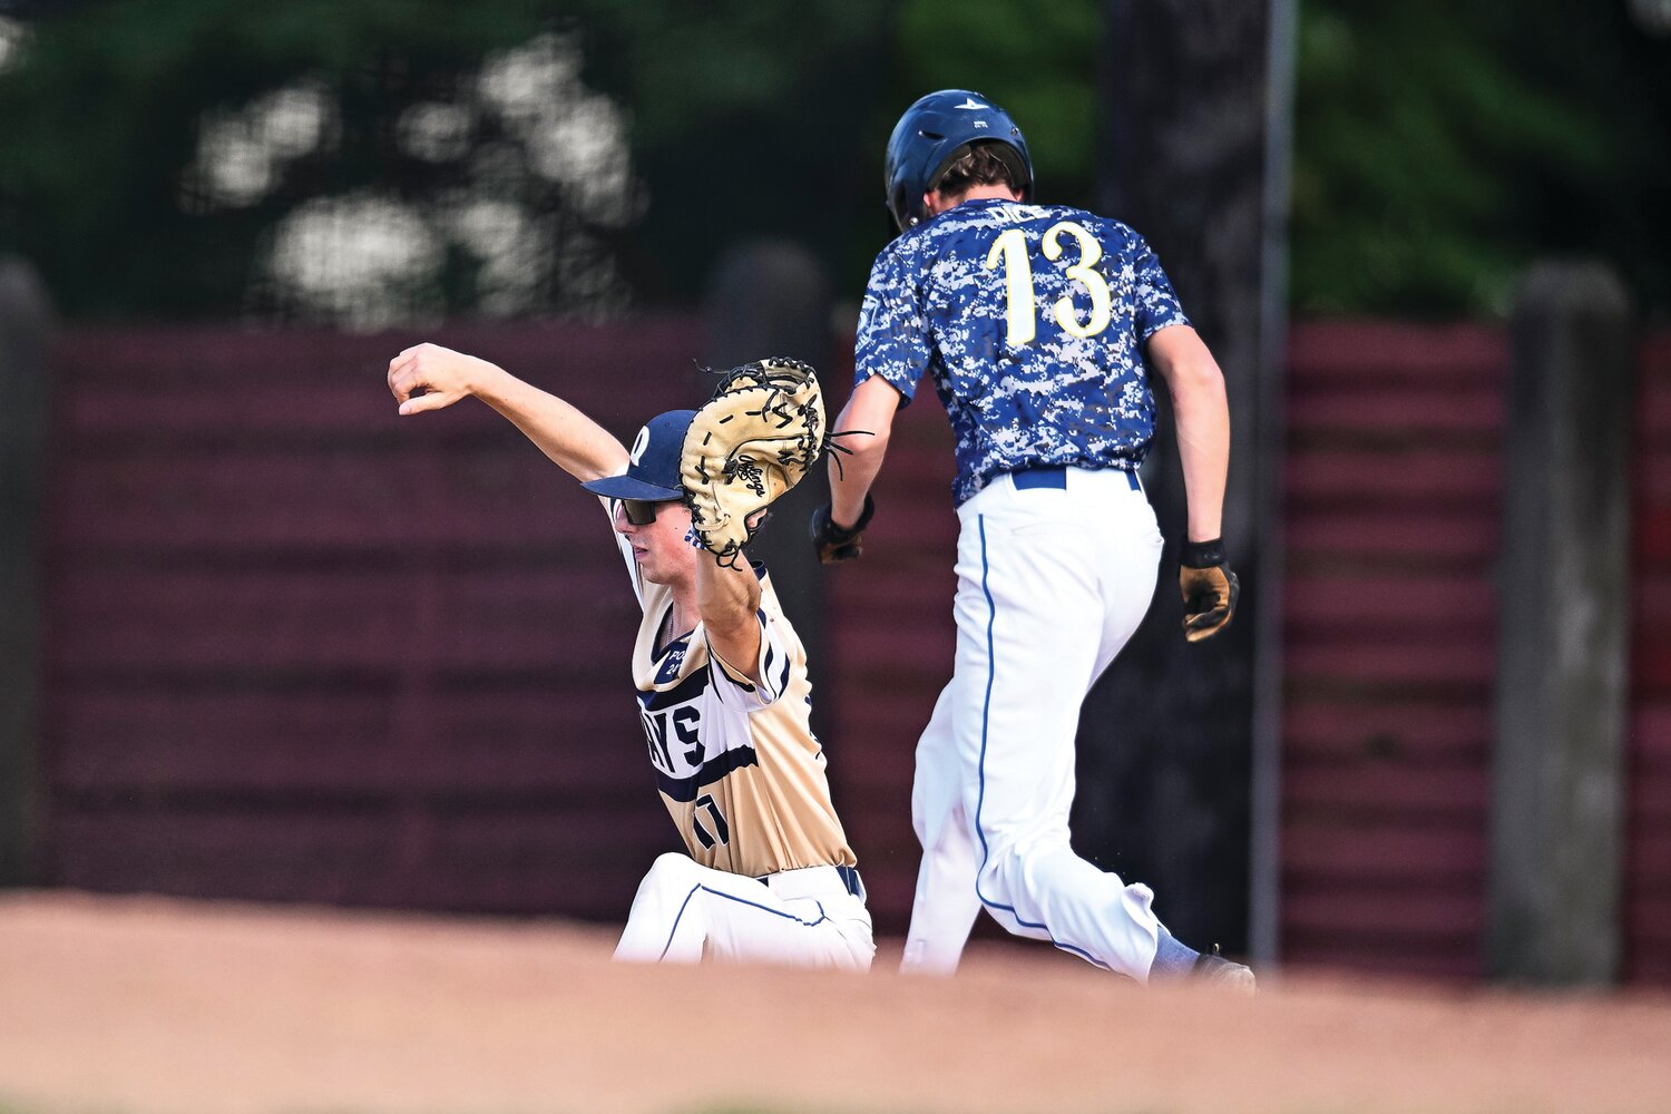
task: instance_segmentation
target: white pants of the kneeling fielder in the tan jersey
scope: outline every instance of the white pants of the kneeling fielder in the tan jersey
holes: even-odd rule
[[[615,959],[869,970],[871,914],[836,867],[754,879],[668,852],[638,884]]]

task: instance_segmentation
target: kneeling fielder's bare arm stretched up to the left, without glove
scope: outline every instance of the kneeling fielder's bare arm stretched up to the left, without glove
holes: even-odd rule
[[[627,468],[622,443],[563,399],[496,364],[439,344],[418,344],[391,359],[389,391],[403,416],[441,409],[475,394],[582,483]]]

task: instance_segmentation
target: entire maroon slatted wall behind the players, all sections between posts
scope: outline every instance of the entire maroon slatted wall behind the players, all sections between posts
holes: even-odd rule
[[[673,847],[597,504],[478,404],[399,421],[416,336],[77,331],[57,357],[50,882],[618,920]],[[630,436],[690,404],[692,321],[449,329]],[[1671,337],[1639,409],[1626,974],[1671,984]],[[1293,331],[1282,947],[1481,970],[1507,349]],[[830,409],[847,369],[825,374]],[[830,777],[884,932],[951,675],[951,438],[906,409],[864,563],[827,570]],[[799,524],[779,524],[799,529]]]

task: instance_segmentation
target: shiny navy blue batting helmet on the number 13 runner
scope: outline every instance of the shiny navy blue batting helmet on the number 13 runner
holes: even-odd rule
[[[939,184],[946,167],[969,144],[981,140],[998,140],[993,154],[1009,167],[1021,195],[1031,197],[1033,157],[1008,112],[968,89],[942,89],[906,109],[887,139],[887,164],[882,169],[887,210],[901,232],[927,215],[922,195]]]

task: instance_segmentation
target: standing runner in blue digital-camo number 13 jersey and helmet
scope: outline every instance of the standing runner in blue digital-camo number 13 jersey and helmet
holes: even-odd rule
[[[952,970],[984,909],[1136,980],[1252,990],[1252,970],[1178,942],[1150,889],[1079,858],[1068,832],[1079,705],[1148,610],[1161,553],[1136,471],[1151,372],[1171,387],[1188,493],[1185,636],[1235,610],[1218,539],[1223,376],[1143,237],[1033,202],[1026,139],[989,99],[911,105],[884,185],[899,235],[871,271],[837,419],[876,436],[830,469],[812,534],[825,561],[861,553],[894,413],[931,376],[956,434],[957,655],[917,743],[922,863],[902,965]]]

